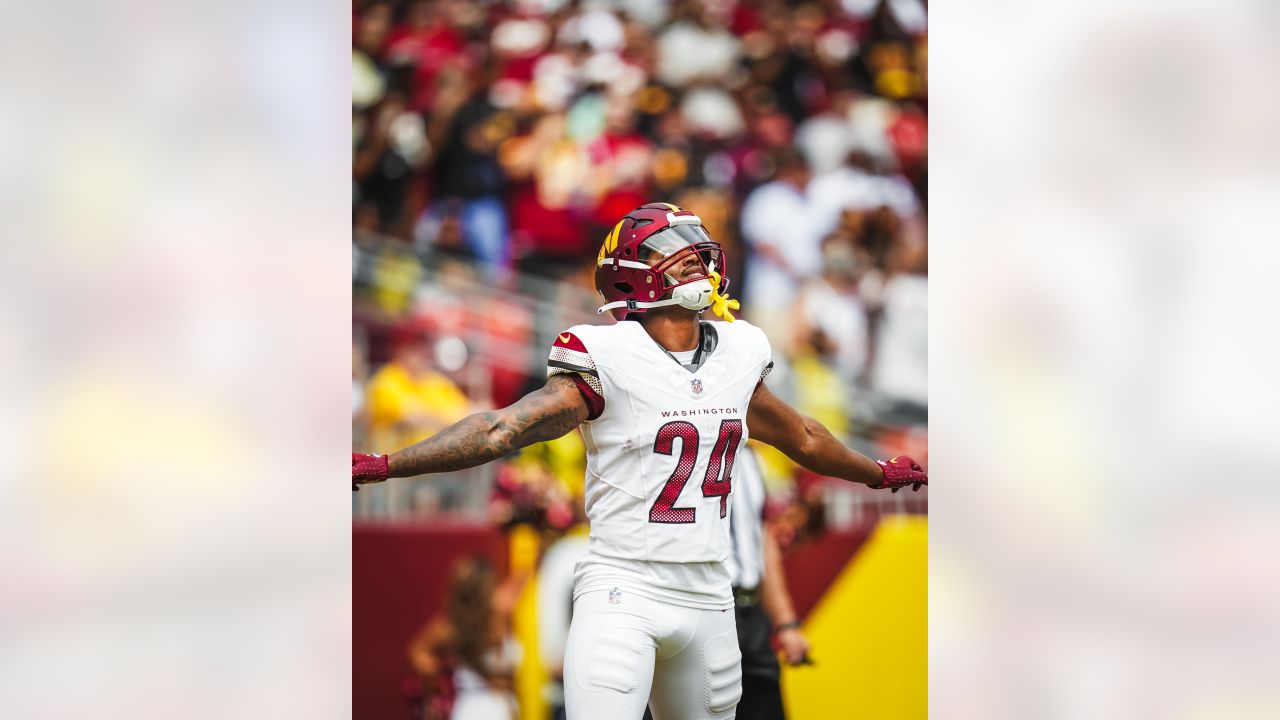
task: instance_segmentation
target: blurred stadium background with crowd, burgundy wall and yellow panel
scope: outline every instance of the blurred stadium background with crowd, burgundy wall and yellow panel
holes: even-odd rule
[[[861,452],[927,464],[923,0],[352,10],[353,448],[540,386],[556,333],[612,322],[591,284],[604,232],[663,200],[724,245],[773,391]],[[927,489],[758,451],[817,662],[785,670],[788,716],[924,717]],[[352,496],[355,717],[447,716],[433,648],[467,593],[520,716],[554,716],[582,466],[572,433]]]

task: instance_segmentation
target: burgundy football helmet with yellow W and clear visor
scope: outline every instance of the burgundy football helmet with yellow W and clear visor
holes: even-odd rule
[[[595,261],[595,290],[604,296],[598,313],[611,310],[618,320],[666,305],[703,310],[728,290],[724,251],[698,215],[669,202],[649,202],[627,213],[605,236]]]

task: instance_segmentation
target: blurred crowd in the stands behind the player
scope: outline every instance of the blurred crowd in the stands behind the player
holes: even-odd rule
[[[778,395],[927,455],[923,0],[356,0],[352,27],[358,447],[540,384],[554,333],[607,322],[604,233],[662,200],[726,247]],[[497,470],[557,525],[573,442]]]

